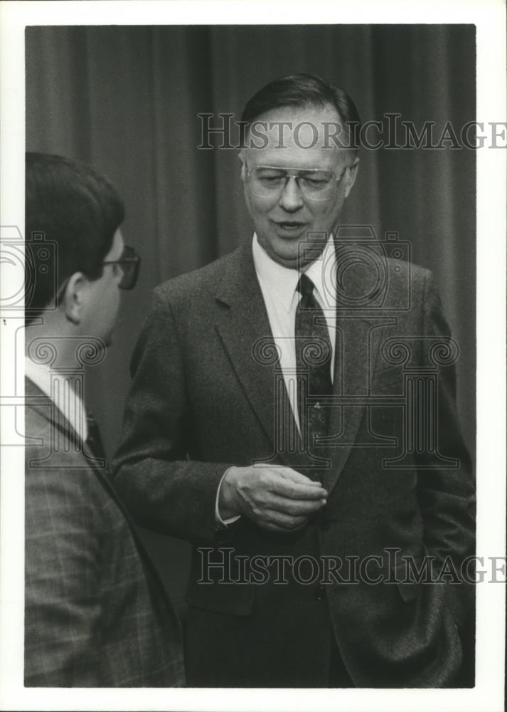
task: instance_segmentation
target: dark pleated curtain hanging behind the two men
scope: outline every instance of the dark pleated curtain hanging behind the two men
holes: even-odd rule
[[[198,150],[198,113],[242,106],[277,76],[345,88],[363,121],[397,112],[420,130],[475,119],[474,26],[85,26],[26,30],[26,147],[83,159],[127,204],[124,237],[142,253],[114,345],[87,380],[108,454],[117,446],[129,357],[149,293],[251,234],[237,151]],[[475,437],[475,155],[363,150],[343,224],[397,231],[432,269],[461,347],[458,402]],[[90,374],[91,375],[91,374]],[[179,604],[186,547],[149,537]]]

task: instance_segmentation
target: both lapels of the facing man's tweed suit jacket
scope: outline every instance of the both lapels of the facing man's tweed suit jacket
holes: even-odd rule
[[[299,431],[284,387],[250,242],[236,251],[235,259],[235,267],[228,272],[227,279],[220,283],[215,294],[218,300],[215,326],[277,459],[306,472],[305,468],[311,460],[300,449]],[[331,466],[324,468],[324,485],[329,491],[336,485],[351,454],[363,416],[369,374],[373,367],[369,338],[371,326],[367,318],[337,305],[333,397],[338,400],[331,408],[329,418],[331,441],[322,453],[331,461]],[[277,392],[275,384],[278,384]],[[343,397],[348,397],[348,404],[340,402]],[[357,403],[350,404],[350,397],[356,397]],[[279,416],[280,412],[282,416]],[[281,422],[277,422],[279,417],[285,419],[285,431],[292,429],[297,434],[295,449],[277,442],[277,431],[282,426]]]

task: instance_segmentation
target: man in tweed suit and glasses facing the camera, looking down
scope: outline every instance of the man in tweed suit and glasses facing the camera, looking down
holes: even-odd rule
[[[275,80],[242,122],[255,233],[154,290],[115,464],[194,545],[188,684],[457,684],[474,486],[434,281],[339,225],[343,90]]]

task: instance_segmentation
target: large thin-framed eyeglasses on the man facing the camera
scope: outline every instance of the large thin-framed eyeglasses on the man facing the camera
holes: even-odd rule
[[[289,178],[294,178],[297,187],[309,200],[329,200],[343,174],[339,176],[331,170],[321,168],[287,169],[274,166],[254,166],[247,171],[247,179],[252,193],[259,198],[274,198],[287,186]]]

